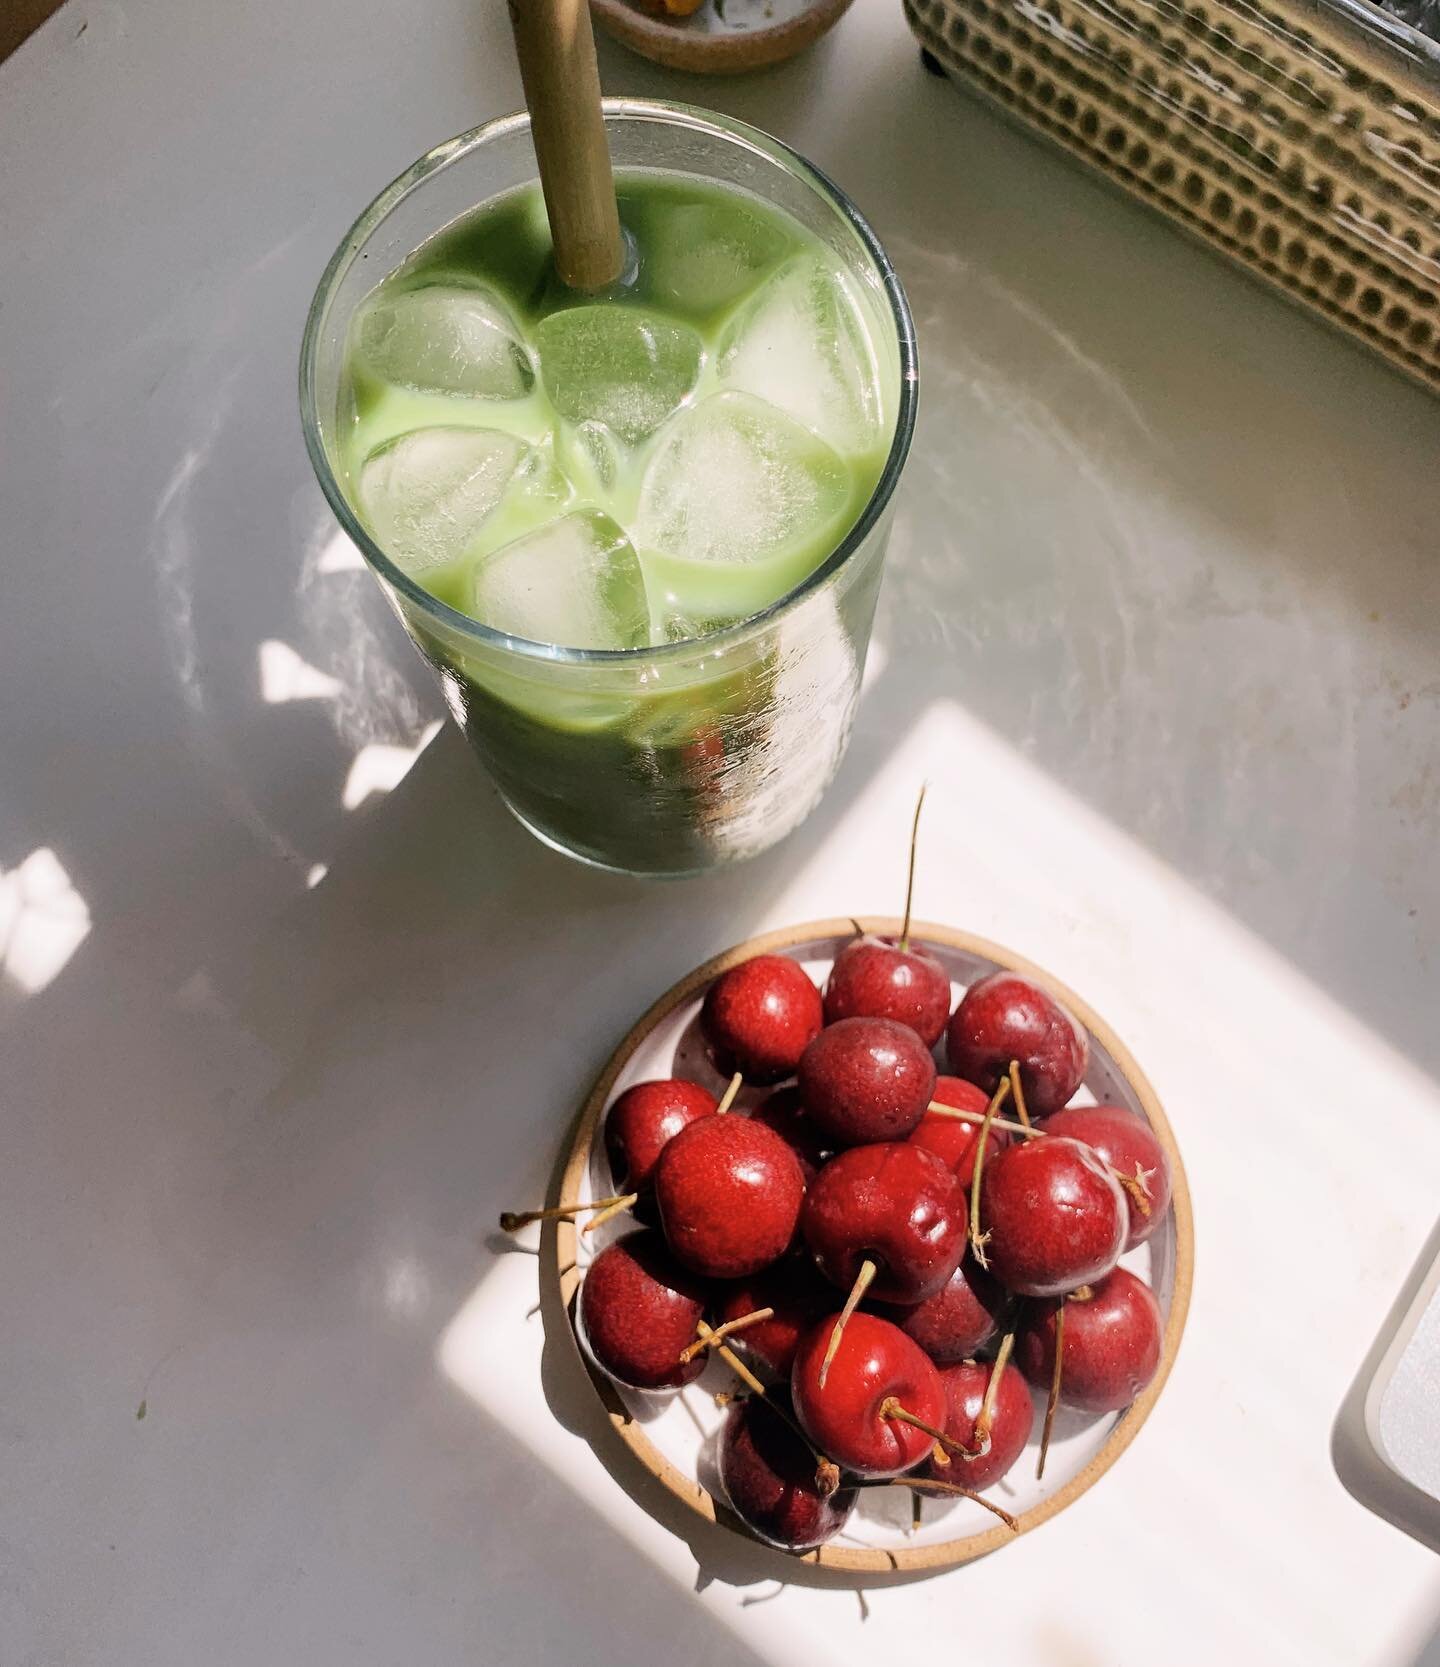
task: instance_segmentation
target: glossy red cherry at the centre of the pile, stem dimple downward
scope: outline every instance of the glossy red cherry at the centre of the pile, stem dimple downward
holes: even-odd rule
[[[805,1244],[833,1285],[848,1290],[860,1264],[875,1264],[875,1302],[923,1302],[942,1290],[965,1254],[968,1224],[960,1182],[933,1152],[905,1140],[832,1157],[800,1212]]]

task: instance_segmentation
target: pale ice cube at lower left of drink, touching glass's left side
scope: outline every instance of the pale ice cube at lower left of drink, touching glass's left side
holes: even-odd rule
[[[535,447],[495,428],[415,428],[360,465],[360,512],[407,573],[462,555],[513,492],[543,490]]]

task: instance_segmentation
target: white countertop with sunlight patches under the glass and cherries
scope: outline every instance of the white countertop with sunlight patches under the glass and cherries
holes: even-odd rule
[[[813,157],[920,328],[848,762],[678,887],[542,850],[450,728],[405,775],[438,700],[300,443],[315,278],[518,103],[503,8],[68,0],[0,65],[0,1660],[1440,1660],[1440,1567],[1332,1462],[1440,1169],[1440,405],[923,75],[898,5],[742,82],[602,70]],[[898,907],[927,775],[920,912],[1125,1037],[1198,1275],[1102,1487],[857,1600],[655,1520],[487,1235],[675,977]]]

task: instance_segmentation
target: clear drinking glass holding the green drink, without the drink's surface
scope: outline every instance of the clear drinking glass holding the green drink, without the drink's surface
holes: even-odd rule
[[[730,117],[642,98],[607,98],[605,127],[617,170],[735,185],[788,210],[840,258],[867,310],[890,450],[857,522],[805,580],[752,618],[685,642],[563,648],[447,607],[357,517],[340,445],[350,322],[423,242],[537,180],[525,113],[437,147],[360,215],[310,307],[300,410],[330,507],[510,810],[583,862],[682,875],[753,857],[798,827],[845,752],[915,427],[915,328],[875,233],[787,145]]]

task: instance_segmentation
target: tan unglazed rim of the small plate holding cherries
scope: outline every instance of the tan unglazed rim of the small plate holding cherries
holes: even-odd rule
[[[590,1149],[600,1129],[600,1119],[605,1114],[605,1107],[610,1104],[610,1090],[613,1089],[620,1072],[628,1064],[630,1055],[663,1019],[675,1012],[677,1007],[690,1002],[712,982],[712,979],[718,977],[728,967],[733,967],[742,960],[748,960],[752,955],[783,954],[797,944],[807,944],[812,939],[852,937],[857,924],[867,932],[895,934],[900,930],[900,922],[893,917],[862,915],[858,922],[848,917],[840,920],[810,920],[803,925],[785,927],[780,932],[767,932],[762,937],[748,939],[745,944],[737,944],[733,949],[725,950],[723,955],[707,960],[703,967],[697,967],[678,984],[672,985],[630,1030],[602,1070],[600,1079],[590,1092],[590,1097],[587,1099],[577,1120],[570,1152],[560,1174],[557,1197],[573,1199],[583,1187],[590,1167]],[[1170,1132],[1170,1124],[1160,1107],[1155,1090],[1150,1087],[1145,1074],[1132,1059],[1125,1044],[1087,1002],[1083,1002],[1067,985],[1060,984],[1058,979],[1050,977],[1050,974],[1047,974],[1042,967],[1015,955],[1002,944],[992,944],[988,939],[975,937],[970,932],[957,932],[953,927],[933,925],[923,920],[912,922],[910,935],[920,939],[922,942],[942,944],[947,949],[975,955],[1012,972],[1022,972],[1025,977],[1033,979],[1037,984],[1057,995],[1105,1049],[1115,1062],[1115,1067],[1135,1092],[1135,1097],[1145,1110],[1145,1117],[1150,1120],[1160,1145],[1165,1149],[1173,1177],[1170,1207],[1175,1212],[1175,1287],[1170,1297],[1170,1314],[1165,1322],[1165,1335],[1162,1339],[1160,1367],[1143,1394],[1122,1415],[1115,1429],[1110,1432],[1108,1440],[1100,1452],[1095,1454],[1090,1464],[1087,1464],[1085,1469],[1073,1475],[1063,1487],[1057,1489],[1048,1499],[1043,1499],[1038,1505],[1032,1505],[1030,1510],[1018,1515],[1017,1520],[1020,1524],[1020,1532],[1025,1534],[1065,1510],[1067,1505],[1073,1504],[1083,1492],[1087,1492],[1087,1489],[1093,1487],[1100,1477],[1105,1475],[1110,1465],[1113,1465],[1130,1442],[1135,1440],[1140,1425],[1150,1415],[1150,1409],[1155,1405],[1160,1397],[1160,1390],[1165,1387],[1165,1379],[1170,1375],[1170,1367],[1175,1364],[1175,1354],[1180,1349],[1180,1335],[1185,1330],[1185,1315],[1190,1309],[1190,1285],[1195,1272],[1195,1235],[1190,1215],[1190,1187],[1185,1180],[1185,1165],[1180,1160],[1175,1135]],[[560,1295],[560,1310],[568,1315],[570,1300],[580,1284],[575,1224],[557,1222],[548,1224],[548,1229],[550,1230],[547,1230],[542,1237],[540,1277],[553,1282]],[[663,1482],[677,1499],[690,1505],[690,1509],[700,1517],[705,1517],[708,1522],[725,1522],[730,1515],[728,1510],[722,1509],[722,1514],[717,1517],[715,1500],[710,1494],[700,1487],[695,1477],[677,1470],[675,1465],[672,1465],[668,1459],[655,1449],[645,1435],[643,1427],[630,1415],[613,1387],[603,1379],[602,1374],[595,1372],[590,1367],[590,1362],[580,1354],[580,1345],[575,1342],[573,1330],[568,1324],[565,1325],[565,1330],[570,1335],[570,1345],[575,1352],[575,1359],[587,1370],[592,1384],[600,1394],[602,1402],[605,1404],[612,1425],[630,1452],[635,1454],[635,1457],[653,1477]],[[963,1539],[945,1540],[938,1545],[898,1547],[895,1550],[822,1545],[818,1550],[805,1554],[803,1560],[818,1564],[822,1569],[875,1574],[917,1569],[938,1570],[953,1569],[975,1557],[983,1557],[987,1552],[1008,1545],[1013,1539],[1015,1534],[1010,1529],[997,1525],[983,1534],[970,1534]]]

